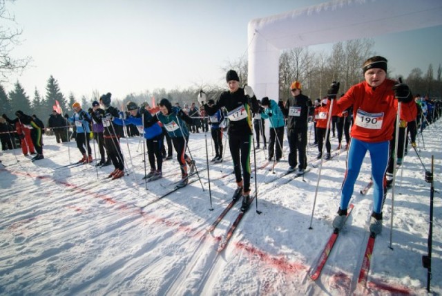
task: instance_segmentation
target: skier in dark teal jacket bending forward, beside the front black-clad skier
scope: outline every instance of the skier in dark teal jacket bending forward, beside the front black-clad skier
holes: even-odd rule
[[[171,102],[167,99],[160,100],[158,104],[160,111],[153,115],[151,122],[162,122],[164,128],[169,133],[173,142],[173,147],[177,152],[177,160],[180,163],[181,169],[181,181],[177,184],[177,187],[184,187],[189,183],[189,174],[193,174],[195,171],[195,160],[192,160],[186,154],[187,144],[189,143],[189,129],[187,124],[192,123],[192,118],[189,117],[184,111],[177,107],[172,107]],[[187,166],[190,167],[189,174],[187,173]]]

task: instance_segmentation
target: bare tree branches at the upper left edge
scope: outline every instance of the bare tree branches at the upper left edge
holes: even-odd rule
[[[19,37],[23,31],[15,28],[17,23],[15,17],[10,15],[6,9],[6,1],[8,0],[0,0],[0,21],[2,23],[0,26],[0,81],[8,81],[11,73],[21,73],[31,60],[30,57],[12,57],[12,51],[15,46],[20,44]]]

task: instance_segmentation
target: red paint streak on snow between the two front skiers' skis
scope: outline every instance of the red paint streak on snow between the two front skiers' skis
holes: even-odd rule
[[[276,257],[274,255],[270,255],[246,243],[238,242],[236,243],[236,248],[245,250],[246,252],[249,252],[250,255],[258,256],[261,261],[265,261],[267,265],[277,268],[282,272],[300,273],[308,269],[307,266],[300,263],[289,262],[285,257],[282,256]]]

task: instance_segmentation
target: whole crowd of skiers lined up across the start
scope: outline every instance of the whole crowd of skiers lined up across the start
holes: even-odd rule
[[[262,143],[268,151],[267,160],[276,163],[283,157],[284,135],[287,133],[287,174],[296,172],[302,175],[309,165],[306,154],[308,126],[309,122],[313,121],[313,144],[318,145],[318,159],[332,158],[330,135],[332,133],[335,136],[335,131],[338,137],[337,149],[344,149],[348,153],[340,207],[333,227],[338,230],[343,227],[354,183],[368,151],[372,161],[374,183],[374,206],[369,229],[378,234],[382,230],[383,198],[394,178],[394,166],[402,163],[409,141],[412,147],[416,147],[418,132],[441,114],[441,104],[421,95],[413,97],[406,84],[388,79],[386,73],[387,59],[380,56],[371,57],[363,64],[363,82],[351,86],[339,98],[340,85],[333,82],[327,96],[316,99],[312,104],[311,100],[302,94],[302,85],[298,81],[291,84],[291,98],[285,102],[277,102],[267,97],[257,100],[251,86],[241,88],[238,73],[231,70],[226,75],[228,90],[219,98],[215,98],[216,100],[208,100],[206,94],[201,91],[197,97],[200,108],[196,107],[195,103],[192,103],[190,108],[185,105],[184,109],[181,109],[179,104],[173,107],[169,100],[163,98],[156,108],[151,108],[147,103],[138,106],[135,102],[128,102],[127,113],[122,113],[111,106],[111,93],[106,93],[101,96],[99,102],[93,102],[88,111],[81,109],[78,102],[73,104],[75,112],[72,116],[63,117],[54,111],[48,120],[48,127],[54,131],[57,142],[66,142],[70,137],[67,122],[75,126],[75,140],[82,155],[80,163],[93,161],[90,147],[90,133],[93,133],[99,147],[100,160],[97,165],[112,163],[114,171],[109,177],[113,179],[124,176],[124,156],[119,142],[122,128],[126,128],[128,134],[139,134],[146,140],[150,172],[144,178],[149,181],[162,178],[163,161],[172,158],[173,147],[181,172],[178,187],[185,186],[189,175],[195,171],[195,161],[186,152],[190,152],[189,134],[198,133],[200,128],[202,131],[208,131],[210,127],[215,147],[215,157],[211,161],[220,163],[224,154],[222,139],[224,131],[227,130],[237,184],[233,199],[241,199],[241,208],[245,211],[251,200],[253,135],[256,138],[256,147],[253,148],[260,149]],[[399,114],[398,106],[401,106]],[[17,118],[10,120],[3,114],[4,120],[0,124],[5,124],[5,121],[15,124],[23,154],[29,152],[36,154],[34,160],[43,159],[42,122],[21,111],[17,111],[15,115]],[[397,115],[400,122],[398,148],[395,149]],[[269,137],[266,137],[265,133],[267,122]],[[2,145],[5,134],[10,135],[10,130],[1,133]],[[345,143],[342,142],[343,136]],[[167,142],[167,153],[164,138]],[[3,145],[3,149],[5,147],[9,146]],[[323,151],[326,151],[324,156]]]

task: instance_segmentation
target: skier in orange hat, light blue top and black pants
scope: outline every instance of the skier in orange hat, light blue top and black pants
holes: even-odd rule
[[[75,127],[77,127],[75,141],[77,141],[77,148],[81,154],[83,154],[83,158],[81,158],[78,163],[92,163],[92,149],[90,149],[89,145],[89,114],[81,109],[79,102],[75,102],[72,107],[75,112],[72,117],[68,118],[68,121],[73,122]]]

